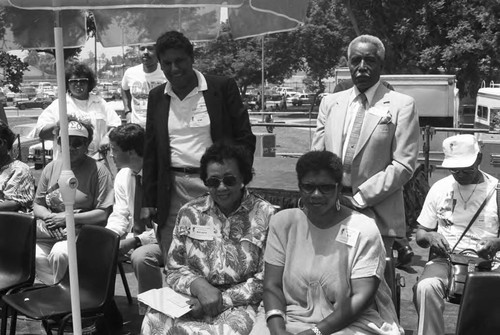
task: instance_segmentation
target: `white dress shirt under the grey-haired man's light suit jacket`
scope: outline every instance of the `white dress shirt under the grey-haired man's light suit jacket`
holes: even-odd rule
[[[380,80],[375,83],[372,87],[367,89],[364,93],[367,99],[366,102],[366,110],[368,110],[373,102],[373,97],[375,95],[375,91],[377,90],[378,86],[380,85]],[[342,144],[342,161],[344,160],[345,153],[347,151],[347,145],[349,143],[349,137],[351,136],[351,131],[352,127],[354,125],[354,119],[356,118],[356,113],[358,112],[359,107],[361,106],[361,101],[358,97],[358,95],[361,92],[359,92],[358,88],[354,86],[351,89],[351,94],[349,95],[349,101],[348,101],[348,108],[347,108],[347,113],[344,121],[344,131],[342,134],[342,139],[343,139],[343,144]],[[351,174],[350,173],[345,173],[342,177],[342,183],[345,186],[352,186],[351,182]]]

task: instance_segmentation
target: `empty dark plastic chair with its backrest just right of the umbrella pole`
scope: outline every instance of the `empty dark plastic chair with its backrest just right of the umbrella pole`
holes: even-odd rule
[[[111,230],[83,226],[76,241],[82,318],[100,317],[109,307],[116,306],[113,297],[118,246],[119,236]],[[15,334],[17,313],[42,320],[47,334],[52,334],[53,323],[58,325],[58,334],[64,334],[71,320],[69,286],[69,271],[66,271],[55,285],[4,296],[4,302],[13,309],[11,334]]]

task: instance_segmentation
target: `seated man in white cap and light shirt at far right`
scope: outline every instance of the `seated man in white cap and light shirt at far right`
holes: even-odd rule
[[[500,250],[498,180],[479,169],[482,154],[476,138],[449,137],[443,141],[443,152],[442,166],[451,175],[431,187],[417,219],[417,243],[423,248],[431,247],[434,254],[413,288],[419,335],[445,333],[444,299],[451,275],[449,253],[453,249],[454,253],[474,249],[480,257],[492,259]],[[472,221],[476,212],[479,214]],[[470,228],[460,238],[471,221]]]

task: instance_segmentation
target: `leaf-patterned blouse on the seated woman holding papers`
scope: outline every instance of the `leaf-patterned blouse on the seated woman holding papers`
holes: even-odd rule
[[[188,202],[177,215],[167,256],[168,286],[191,294],[191,283],[202,277],[222,291],[226,307],[258,304],[263,247],[273,214],[269,202],[248,191],[238,209],[227,217],[210,195]],[[195,236],[197,230],[207,232],[208,240]],[[245,241],[249,242],[248,250]]]

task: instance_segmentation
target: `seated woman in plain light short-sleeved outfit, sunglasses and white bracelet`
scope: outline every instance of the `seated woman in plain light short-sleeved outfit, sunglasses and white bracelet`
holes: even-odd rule
[[[296,171],[300,205],[269,224],[265,314],[259,312],[252,334],[404,334],[384,279],[377,225],[339,202],[341,160],[312,151]]]

